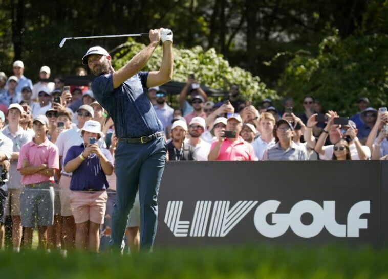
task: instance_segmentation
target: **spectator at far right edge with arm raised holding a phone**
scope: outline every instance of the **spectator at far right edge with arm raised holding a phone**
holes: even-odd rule
[[[380,132],[379,132],[380,131]],[[377,138],[376,135],[378,134]],[[388,112],[378,111],[377,120],[369,133],[366,145],[372,152],[372,160],[388,155]]]

